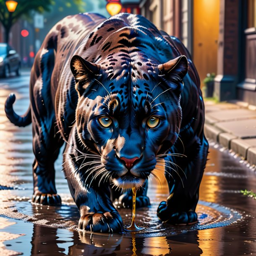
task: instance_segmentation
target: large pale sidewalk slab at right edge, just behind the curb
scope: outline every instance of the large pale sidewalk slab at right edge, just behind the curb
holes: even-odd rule
[[[256,119],[220,122],[215,127],[239,138],[256,138]]]

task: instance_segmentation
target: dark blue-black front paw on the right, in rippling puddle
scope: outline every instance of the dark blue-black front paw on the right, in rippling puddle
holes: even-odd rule
[[[168,209],[165,201],[159,204],[157,217],[163,222],[172,225],[193,225],[197,222],[196,212],[172,212]]]

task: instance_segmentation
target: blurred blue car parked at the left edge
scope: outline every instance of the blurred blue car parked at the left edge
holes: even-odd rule
[[[11,72],[21,75],[21,57],[10,45],[0,43],[0,76],[9,77]]]

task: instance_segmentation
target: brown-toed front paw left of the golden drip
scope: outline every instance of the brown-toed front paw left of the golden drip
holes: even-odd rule
[[[92,232],[120,233],[123,220],[118,212],[89,213],[81,216],[78,227]]]

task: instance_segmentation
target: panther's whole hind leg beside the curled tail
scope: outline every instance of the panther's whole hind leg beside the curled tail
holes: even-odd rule
[[[54,99],[51,90],[51,76],[55,63],[55,53],[51,47],[52,44],[47,44],[47,49],[39,50],[30,80],[33,152],[35,156],[32,202],[58,205],[61,204],[61,199],[55,188],[54,162],[58,157],[63,139],[58,133],[56,125]],[[38,69],[41,73],[35,72]]]

